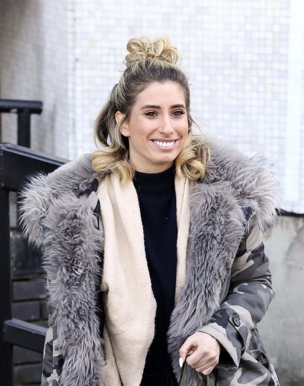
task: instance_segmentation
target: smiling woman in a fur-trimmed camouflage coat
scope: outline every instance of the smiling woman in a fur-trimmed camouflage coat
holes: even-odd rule
[[[170,41],[127,49],[95,122],[102,149],[23,193],[48,274],[41,384],[173,386],[189,353],[186,385],[277,386],[256,329],[274,296],[276,183],[262,157],[194,136]]]

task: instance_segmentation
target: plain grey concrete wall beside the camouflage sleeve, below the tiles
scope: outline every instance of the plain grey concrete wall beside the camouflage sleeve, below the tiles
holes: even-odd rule
[[[264,242],[276,296],[258,329],[281,386],[303,386],[304,217],[280,217]]]

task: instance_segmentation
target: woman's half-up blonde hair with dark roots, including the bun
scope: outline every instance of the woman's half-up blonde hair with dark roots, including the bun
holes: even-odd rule
[[[97,115],[93,126],[93,138],[96,146],[92,154],[92,168],[105,174],[118,174],[122,183],[134,177],[134,167],[129,162],[129,141],[124,137],[115,120],[117,111],[125,114],[120,125],[130,117],[132,106],[138,94],[153,82],[172,81],[183,89],[188,117],[188,136],[183,149],[175,159],[178,176],[189,179],[201,179],[205,175],[209,160],[209,149],[202,138],[192,131],[194,120],[190,114],[190,88],[186,74],[177,66],[181,59],[177,48],[171,45],[168,38],[150,41],[142,36],[132,38],[127,43],[127,54],[124,64],[126,69],[118,83],[112,88],[104,107]]]

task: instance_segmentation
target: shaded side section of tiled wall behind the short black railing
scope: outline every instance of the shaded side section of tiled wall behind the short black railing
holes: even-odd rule
[[[32,147],[64,158],[71,131],[67,15],[60,0],[1,2],[1,98],[41,100],[42,114],[31,117]],[[2,141],[17,143],[16,134],[17,116],[2,114]]]

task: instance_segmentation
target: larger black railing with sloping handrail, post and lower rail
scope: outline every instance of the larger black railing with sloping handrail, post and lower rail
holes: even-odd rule
[[[27,175],[50,173],[67,160],[47,157],[27,147],[0,144],[0,371],[1,385],[13,385],[13,346],[43,352],[46,328],[12,319],[9,192],[17,192]]]

